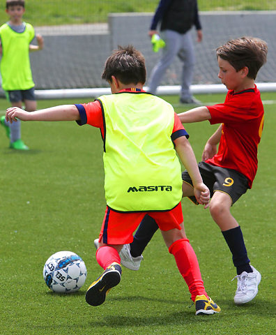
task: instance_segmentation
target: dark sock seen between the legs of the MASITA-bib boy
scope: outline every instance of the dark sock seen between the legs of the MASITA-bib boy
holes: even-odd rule
[[[156,230],[158,230],[158,224],[151,216],[146,214],[133,237],[133,242],[130,244],[130,254],[132,257],[140,256],[143,253],[144,248],[151,241]]]

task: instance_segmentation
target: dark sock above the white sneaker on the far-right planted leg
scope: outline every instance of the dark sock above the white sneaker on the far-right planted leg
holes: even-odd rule
[[[250,267],[250,259],[247,257],[245,241],[243,241],[243,233],[240,226],[225,230],[222,234],[232,253],[233,265],[237,269],[237,274],[241,274],[243,271],[252,272],[253,270]]]

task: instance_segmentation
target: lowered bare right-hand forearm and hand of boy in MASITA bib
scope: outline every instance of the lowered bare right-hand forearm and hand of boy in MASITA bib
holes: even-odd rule
[[[181,136],[174,140],[174,144],[176,145],[176,152],[178,153],[179,158],[192,179],[194,196],[197,198],[197,202],[203,204],[204,208],[207,208],[210,200],[210,191],[202,181],[197,160],[194,156],[194,151],[192,150],[190,142],[185,136]]]

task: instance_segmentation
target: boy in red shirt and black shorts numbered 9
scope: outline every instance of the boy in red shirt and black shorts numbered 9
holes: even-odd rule
[[[210,189],[210,214],[233,256],[238,279],[235,304],[254,299],[261,281],[259,271],[250,265],[243,234],[230,209],[247,188],[252,187],[256,175],[257,149],[263,131],[263,104],[254,80],[266,62],[267,52],[266,42],[259,38],[238,38],[218,47],[218,77],[229,89],[224,103],[178,114],[184,124],[204,120],[220,124],[204,147],[199,172]],[[183,172],[182,177],[183,196],[197,203],[188,172]],[[141,253],[157,229],[153,218],[146,216],[132,244],[121,251],[123,265],[139,269]]]

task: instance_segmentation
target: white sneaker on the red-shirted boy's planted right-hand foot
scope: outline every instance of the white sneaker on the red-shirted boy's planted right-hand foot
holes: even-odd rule
[[[250,265],[252,267],[252,265]],[[237,290],[236,295],[234,297],[234,302],[237,305],[245,304],[254,297],[258,293],[258,285],[261,281],[261,274],[254,267],[252,267],[253,272],[245,272],[234,277],[237,278]],[[233,280],[232,279],[232,280]]]

